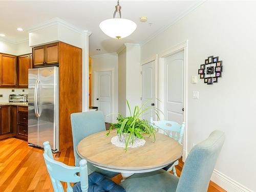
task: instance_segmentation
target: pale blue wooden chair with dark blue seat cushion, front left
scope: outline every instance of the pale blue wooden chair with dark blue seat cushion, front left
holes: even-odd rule
[[[49,141],[44,142],[44,148],[44,159],[55,192],[64,191],[60,181],[67,182],[67,192],[125,192],[121,186],[97,172],[88,176],[86,160],[82,159],[79,167],[68,166],[54,160]],[[76,184],[71,187],[70,183]]]

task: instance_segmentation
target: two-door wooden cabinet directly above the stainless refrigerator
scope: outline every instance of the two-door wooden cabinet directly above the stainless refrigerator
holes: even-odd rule
[[[58,42],[33,48],[33,68],[59,63]]]

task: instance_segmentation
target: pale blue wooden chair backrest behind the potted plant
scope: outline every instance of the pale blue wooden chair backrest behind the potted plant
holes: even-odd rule
[[[158,129],[160,133],[168,135],[169,137],[173,137],[179,143],[181,143],[186,123],[176,123],[174,121],[153,121],[153,118],[150,118],[151,124]],[[163,131],[164,130],[164,131]]]

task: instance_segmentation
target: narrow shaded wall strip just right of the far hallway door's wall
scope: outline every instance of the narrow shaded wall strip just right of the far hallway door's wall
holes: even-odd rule
[[[118,112],[126,115],[126,48],[118,54]]]

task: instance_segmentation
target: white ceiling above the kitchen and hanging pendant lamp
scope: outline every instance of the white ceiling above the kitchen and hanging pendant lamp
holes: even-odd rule
[[[120,0],[122,18],[133,20],[137,29],[126,38],[113,39],[99,29],[99,23],[113,16],[116,1],[0,1],[0,34],[4,33],[6,40],[23,41],[28,39],[26,29],[58,17],[92,32],[89,38],[90,55],[113,53],[125,42],[143,44],[201,3]],[[141,16],[147,16],[148,21],[141,23]],[[150,26],[148,22],[153,24]],[[25,31],[17,31],[18,27]]]

